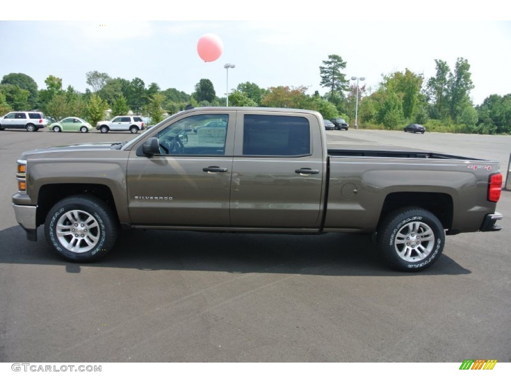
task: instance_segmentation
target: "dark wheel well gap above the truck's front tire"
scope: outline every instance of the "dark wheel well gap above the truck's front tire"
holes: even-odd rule
[[[77,194],[99,198],[110,207],[112,213],[115,214],[115,218],[118,220],[113,195],[108,186],[94,183],[59,183],[43,185],[39,189],[36,224],[44,224],[48,212],[58,201]]]

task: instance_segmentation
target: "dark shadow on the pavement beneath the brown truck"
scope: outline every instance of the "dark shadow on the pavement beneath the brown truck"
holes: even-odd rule
[[[189,270],[228,273],[282,273],[325,276],[410,276],[393,271],[378,254],[368,235],[236,234],[192,231],[121,231],[113,250],[91,263],[59,257],[46,243],[42,227],[38,241],[26,240],[13,226],[0,231],[0,263],[126,268],[142,271]],[[415,275],[470,274],[446,253],[430,268]]]

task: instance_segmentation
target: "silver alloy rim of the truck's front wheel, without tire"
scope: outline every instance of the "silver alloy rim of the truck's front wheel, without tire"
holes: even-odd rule
[[[56,227],[59,243],[69,251],[85,253],[100,239],[98,221],[83,210],[69,210],[62,214]]]

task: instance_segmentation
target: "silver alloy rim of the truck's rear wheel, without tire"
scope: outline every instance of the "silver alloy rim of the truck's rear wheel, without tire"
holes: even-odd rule
[[[396,233],[394,247],[399,257],[407,262],[427,258],[435,246],[435,234],[424,222],[410,222]]]

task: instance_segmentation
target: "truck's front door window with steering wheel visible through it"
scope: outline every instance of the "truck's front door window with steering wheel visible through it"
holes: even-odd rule
[[[225,154],[228,114],[185,117],[158,133],[163,155],[222,156]]]

